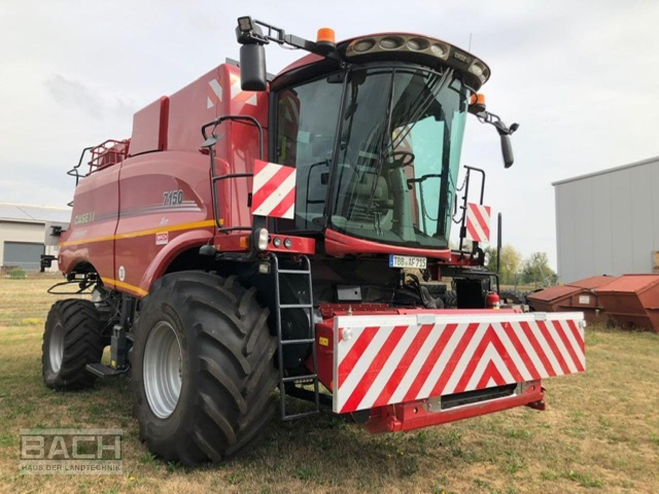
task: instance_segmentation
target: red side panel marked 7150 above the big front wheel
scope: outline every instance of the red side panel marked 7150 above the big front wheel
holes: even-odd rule
[[[163,261],[190,246],[186,239],[208,242],[214,232],[214,222],[208,221],[213,219],[208,167],[207,156],[183,151],[148,153],[123,163],[115,279],[123,266],[121,281],[146,292],[154,275],[167,267]],[[164,205],[163,192],[171,191],[182,191],[183,202]],[[172,230],[179,225],[190,227]]]

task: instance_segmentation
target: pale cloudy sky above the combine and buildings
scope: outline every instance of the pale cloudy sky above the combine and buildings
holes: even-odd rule
[[[492,70],[488,110],[519,130],[505,170],[494,128],[470,118],[463,163],[486,170],[503,243],[554,267],[551,182],[659,155],[657,1],[313,4],[0,0],[0,202],[69,202],[82,148],[129,137],[135,111],[237,59],[243,15],[312,40],[328,26],[337,40],[416,32],[467,49],[471,35]],[[266,50],[272,73],[304,55]]]

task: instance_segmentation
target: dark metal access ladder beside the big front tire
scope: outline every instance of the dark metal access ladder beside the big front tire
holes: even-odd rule
[[[277,342],[279,344],[279,393],[281,394],[281,420],[294,420],[296,418],[306,417],[309,415],[317,414],[320,412],[320,393],[318,392],[318,356],[316,355],[316,325],[314,324],[314,294],[311,280],[311,261],[306,256],[301,256],[302,269],[279,269],[279,258],[274,253],[270,253],[272,259],[273,274],[275,276],[275,319],[277,322]],[[281,303],[281,275],[284,276],[306,276],[308,280],[308,303],[299,304],[282,304]],[[283,339],[281,334],[281,311],[282,310],[304,310],[309,321],[307,335],[308,338],[302,339]],[[312,373],[305,375],[284,375],[284,361],[283,350],[284,346],[295,344],[311,344],[312,348]],[[299,389],[295,387],[295,383],[299,381],[312,381],[314,384],[314,391],[306,389]],[[306,392],[306,393],[305,393]],[[314,410],[302,412],[297,414],[287,414],[286,412],[286,397],[293,396],[297,398],[312,398],[314,402]]]

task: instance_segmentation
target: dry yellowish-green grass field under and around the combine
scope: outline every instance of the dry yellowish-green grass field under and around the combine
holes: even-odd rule
[[[138,440],[125,377],[61,394],[41,377],[49,280],[0,280],[0,491],[89,493],[659,493],[659,335],[587,330],[588,371],[517,408],[370,435],[324,412],[273,420],[264,445],[185,469]],[[276,400],[276,395],[273,395]],[[21,427],[121,427],[121,476],[19,476]]]

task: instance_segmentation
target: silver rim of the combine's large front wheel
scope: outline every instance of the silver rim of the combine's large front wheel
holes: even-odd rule
[[[174,328],[160,321],[144,348],[144,391],[151,411],[158,418],[173,414],[181,395],[183,353]]]

